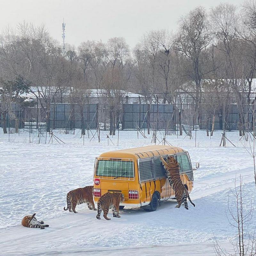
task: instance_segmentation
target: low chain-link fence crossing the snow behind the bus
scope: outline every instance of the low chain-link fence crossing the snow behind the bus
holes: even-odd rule
[[[133,145],[134,147],[145,145],[175,145],[183,148],[188,147],[237,147],[248,148],[252,145],[252,134],[249,132],[239,136],[239,131],[214,131],[212,136],[206,136],[205,130],[183,130],[179,135],[176,130],[116,130],[115,135],[109,135],[109,130],[102,129],[51,129],[46,132],[46,124],[36,124],[30,122],[24,128],[19,128],[18,132],[13,127],[7,127],[7,133],[0,129],[0,141],[38,143],[38,144],[76,144],[76,145],[100,145],[100,146],[120,146]],[[186,131],[186,132],[185,132]]]

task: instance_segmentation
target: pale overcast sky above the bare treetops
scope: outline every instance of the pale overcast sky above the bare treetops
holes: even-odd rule
[[[0,29],[26,20],[44,23],[52,37],[61,41],[64,18],[66,42],[78,46],[87,40],[107,42],[123,36],[134,47],[146,32],[175,31],[180,16],[198,5],[209,9],[221,0],[0,0]],[[243,0],[230,0],[240,5]]]

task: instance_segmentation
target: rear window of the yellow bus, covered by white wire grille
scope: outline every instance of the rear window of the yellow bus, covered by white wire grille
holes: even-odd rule
[[[96,175],[113,178],[134,178],[133,161],[119,159],[98,160]]]

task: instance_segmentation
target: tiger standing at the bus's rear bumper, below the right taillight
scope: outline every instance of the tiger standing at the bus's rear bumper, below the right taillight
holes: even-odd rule
[[[122,202],[124,202],[124,194],[120,192],[107,192],[106,194],[100,197],[97,203],[98,214],[96,215],[96,218],[100,220],[100,214],[103,211],[103,217],[106,220],[111,220],[107,216],[109,209],[112,209],[113,217],[121,218],[121,216],[119,215],[119,204]]]

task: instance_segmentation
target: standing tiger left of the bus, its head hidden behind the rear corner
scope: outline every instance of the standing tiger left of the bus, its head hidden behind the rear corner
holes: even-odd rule
[[[86,203],[90,210],[96,211],[92,197],[93,186],[87,186],[84,188],[76,188],[71,190],[67,194],[67,209],[64,210],[69,212],[76,212],[76,205]],[[71,210],[72,209],[72,210]]]

